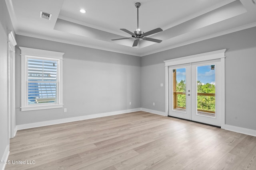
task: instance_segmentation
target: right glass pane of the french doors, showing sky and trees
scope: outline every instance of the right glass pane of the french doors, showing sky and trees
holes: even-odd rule
[[[215,65],[197,66],[197,115],[216,117]]]

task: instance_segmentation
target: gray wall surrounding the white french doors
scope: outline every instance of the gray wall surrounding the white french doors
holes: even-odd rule
[[[256,27],[142,57],[141,107],[165,111],[164,60],[219,49],[227,49],[226,124],[256,130]]]

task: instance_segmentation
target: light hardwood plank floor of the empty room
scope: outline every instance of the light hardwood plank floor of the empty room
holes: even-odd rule
[[[6,170],[256,170],[256,137],[138,111],[20,130],[8,160],[26,164]]]

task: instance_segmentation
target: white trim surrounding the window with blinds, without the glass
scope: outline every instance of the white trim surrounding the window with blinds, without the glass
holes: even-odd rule
[[[64,53],[56,52],[56,51],[47,51],[40,49],[32,49],[26,47],[20,47],[21,49],[21,111],[28,110],[39,110],[39,109],[53,109],[53,108],[61,108],[63,107],[63,55]],[[59,62],[58,66],[58,99],[57,103],[54,104],[36,104],[36,105],[28,105],[26,98],[28,97],[28,89],[26,86],[27,80],[27,57],[36,57],[41,59],[56,59]]]

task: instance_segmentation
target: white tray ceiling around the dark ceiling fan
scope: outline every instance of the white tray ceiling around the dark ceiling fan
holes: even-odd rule
[[[256,26],[256,0],[138,0],[139,27],[161,43],[133,39],[137,0],[6,0],[16,34],[144,56]],[[82,14],[80,9],[87,12]],[[52,14],[40,18],[40,11]]]

